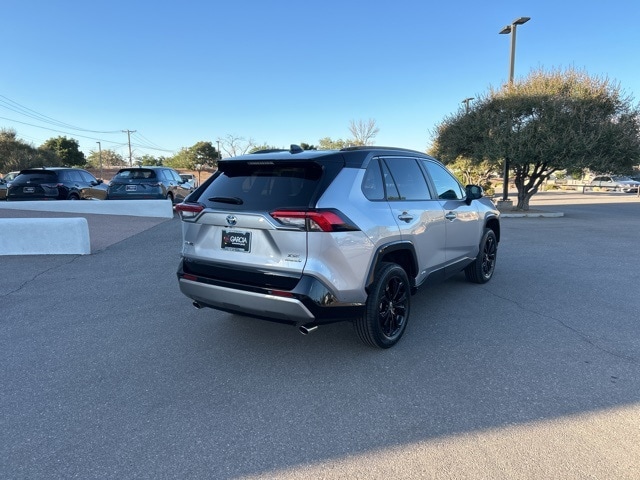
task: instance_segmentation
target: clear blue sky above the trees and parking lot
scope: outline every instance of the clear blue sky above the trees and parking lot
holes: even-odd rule
[[[575,67],[640,96],[637,0],[1,6],[0,128],[35,146],[75,138],[85,154],[100,141],[128,156],[127,129],[134,156],[168,156],[227,135],[346,139],[350,120],[370,118],[375,143],[424,151],[464,98],[507,81],[510,38],[498,32],[521,16],[516,78]]]

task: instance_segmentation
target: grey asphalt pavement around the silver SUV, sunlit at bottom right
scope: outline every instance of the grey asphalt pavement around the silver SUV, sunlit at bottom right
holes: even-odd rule
[[[176,219],[0,257],[0,477],[640,478],[640,202],[563,201],[388,351],[193,309]]]

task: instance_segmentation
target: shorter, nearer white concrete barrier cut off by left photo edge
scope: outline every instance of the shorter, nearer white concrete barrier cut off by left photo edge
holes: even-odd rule
[[[0,255],[89,255],[86,218],[0,218]]]

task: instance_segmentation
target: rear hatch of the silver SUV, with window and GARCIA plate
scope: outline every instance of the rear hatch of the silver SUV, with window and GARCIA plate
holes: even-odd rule
[[[251,157],[220,162],[215,176],[177,207],[184,220],[183,268],[289,290],[302,276],[309,232],[343,223],[313,208],[343,163]]]

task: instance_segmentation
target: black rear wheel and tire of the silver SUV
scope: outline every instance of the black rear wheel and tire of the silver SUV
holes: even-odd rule
[[[389,348],[398,343],[409,320],[411,306],[409,277],[395,263],[383,263],[376,270],[364,313],[355,327],[365,344]]]

